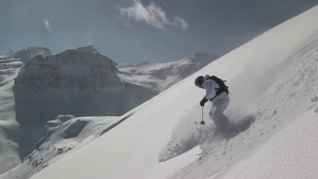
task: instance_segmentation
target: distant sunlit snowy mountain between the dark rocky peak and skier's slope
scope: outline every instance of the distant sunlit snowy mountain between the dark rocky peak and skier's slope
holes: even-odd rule
[[[176,62],[119,64],[117,68],[125,75],[123,78],[127,81],[143,86],[148,85],[161,92],[218,58],[207,53],[197,53]]]

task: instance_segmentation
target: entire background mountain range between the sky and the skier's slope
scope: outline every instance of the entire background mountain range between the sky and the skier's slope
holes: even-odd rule
[[[0,130],[5,139],[1,151],[9,154],[0,159],[3,163],[10,163],[2,165],[0,172],[3,173],[17,166],[35,150],[44,134],[52,133],[57,125],[54,123],[52,126],[50,121],[57,120],[58,116],[120,116],[218,57],[201,53],[177,62],[144,66],[152,68],[152,74],[135,74],[131,69],[140,67],[141,64],[117,64],[93,46],[70,49],[56,55],[46,48],[27,48],[11,51],[0,58],[3,67],[0,70],[3,74],[0,91],[4,92],[1,100],[5,100],[0,105],[5,111],[0,114],[1,119],[2,115],[9,114],[0,122]],[[16,65],[12,66],[13,63]],[[159,79],[160,73],[164,74]],[[167,80],[169,83],[166,83]],[[9,107],[7,103],[10,104]],[[64,122],[69,122],[72,118],[66,119],[68,120]],[[62,125],[63,122],[58,121],[59,125]],[[107,121],[109,122],[109,119]],[[93,123],[95,122],[98,121]],[[60,136],[62,128],[54,130],[52,135]],[[92,128],[90,132],[97,130]],[[86,134],[91,133],[81,136],[87,137]],[[76,140],[78,144],[82,138],[76,137]],[[41,141],[43,142],[43,139]],[[56,141],[46,142],[43,146],[51,147]],[[56,142],[55,145],[59,143]],[[75,144],[71,144],[62,147],[73,149],[74,146]],[[28,164],[33,163],[39,156],[48,155],[46,159],[44,157],[45,161],[42,161],[42,164],[58,159],[53,160],[54,156],[50,154],[52,153],[40,152],[34,156],[33,152],[31,155],[34,160],[23,163],[18,168],[28,171]],[[30,158],[29,156],[28,159]],[[27,176],[35,173],[29,172]]]

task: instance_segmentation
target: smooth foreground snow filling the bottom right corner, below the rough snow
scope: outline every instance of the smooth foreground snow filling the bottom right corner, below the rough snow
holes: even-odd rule
[[[317,178],[317,118],[318,114],[314,110],[302,114],[250,157],[210,179]]]

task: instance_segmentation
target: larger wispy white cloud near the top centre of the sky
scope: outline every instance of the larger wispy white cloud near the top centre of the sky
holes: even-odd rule
[[[148,6],[144,6],[140,0],[133,0],[133,2],[132,6],[119,8],[122,16],[127,15],[128,18],[133,18],[136,21],[145,21],[159,29],[164,29],[166,25],[180,26],[182,29],[188,28],[188,24],[180,17],[173,17],[173,20],[169,20],[161,7],[158,7],[154,2]]]

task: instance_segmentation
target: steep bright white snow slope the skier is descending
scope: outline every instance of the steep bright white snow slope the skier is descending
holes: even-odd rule
[[[121,116],[119,125],[32,179],[314,178],[317,16],[315,6],[214,61]],[[159,162],[168,144],[184,144],[199,130],[194,121],[201,119],[198,102],[204,91],[193,81],[204,74],[228,80],[232,102],[226,114],[232,122],[248,114],[255,122],[228,140],[211,139],[201,157],[194,155],[195,147]]]

